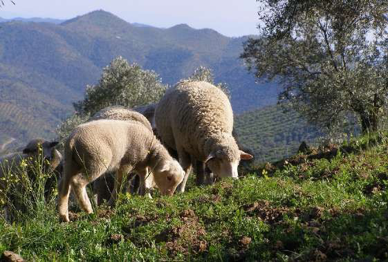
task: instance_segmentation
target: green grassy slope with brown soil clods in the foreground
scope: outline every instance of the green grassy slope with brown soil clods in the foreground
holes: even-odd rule
[[[331,145],[171,198],[122,196],[115,209],[75,211],[67,224],[51,203],[1,221],[0,252],[45,261],[386,261],[388,139],[379,140]]]

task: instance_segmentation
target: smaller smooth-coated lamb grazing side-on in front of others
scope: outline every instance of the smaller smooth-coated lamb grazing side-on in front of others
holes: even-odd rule
[[[73,189],[82,209],[93,212],[86,185],[106,171],[115,171],[115,186],[109,204],[113,205],[122,178],[129,169],[140,178],[154,173],[156,185],[163,195],[172,196],[185,173],[156,139],[139,122],[95,120],[76,127],[65,143],[64,175],[59,182],[58,211],[62,221],[68,219],[68,196]]]

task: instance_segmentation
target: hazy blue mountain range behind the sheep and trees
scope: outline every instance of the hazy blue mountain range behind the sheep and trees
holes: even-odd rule
[[[239,54],[248,37],[225,37],[185,24],[138,26],[103,10],[61,24],[8,21],[0,26],[0,145],[15,138],[53,138],[87,84],[118,55],[156,71],[174,84],[198,66],[214,70],[230,86],[232,106],[242,113],[277,97],[275,84],[256,84]]]

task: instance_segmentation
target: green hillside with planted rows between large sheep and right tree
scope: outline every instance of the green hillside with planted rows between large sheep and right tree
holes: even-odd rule
[[[239,142],[254,151],[258,162],[291,156],[302,141],[315,144],[317,138],[325,135],[298,113],[283,113],[277,105],[237,115],[234,127]]]

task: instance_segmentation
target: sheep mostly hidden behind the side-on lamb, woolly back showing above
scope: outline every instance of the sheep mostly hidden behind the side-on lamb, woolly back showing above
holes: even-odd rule
[[[153,114],[152,114],[153,115]],[[137,111],[127,109],[124,106],[108,106],[97,113],[95,113],[89,121],[110,119],[110,120],[124,120],[124,121],[137,121],[143,124],[149,131],[153,131],[149,120],[138,113]],[[131,178],[131,187],[134,191],[140,187],[140,195],[147,195],[151,198],[151,187],[154,185],[153,175],[150,173],[147,176],[147,181],[138,181],[138,176]],[[140,182],[140,185],[138,185]],[[93,181],[93,191],[97,195],[97,204],[100,205],[103,200],[109,200],[111,191],[113,190],[114,178],[113,174],[106,174]]]

